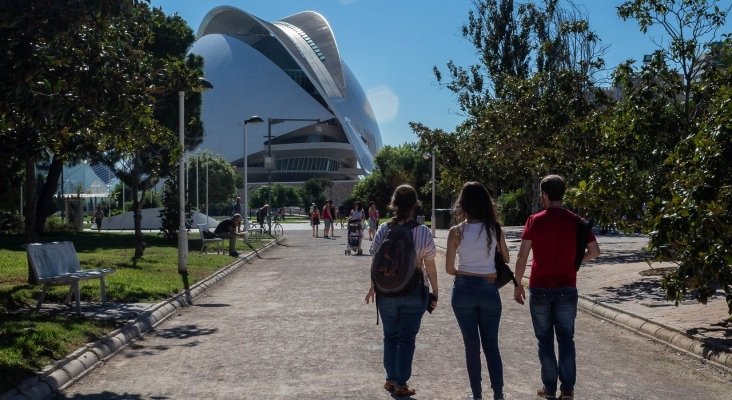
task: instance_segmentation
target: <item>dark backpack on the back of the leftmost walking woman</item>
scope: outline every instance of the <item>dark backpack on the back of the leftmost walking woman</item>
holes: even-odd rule
[[[417,266],[412,229],[417,221],[392,224],[371,261],[371,280],[377,295],[403,296],[411,293],[424,277]]]

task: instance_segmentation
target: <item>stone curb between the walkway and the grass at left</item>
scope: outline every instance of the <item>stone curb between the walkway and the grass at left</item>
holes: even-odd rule
[[[282,244],[286,240],[286,237],[273,240],[258,251],[248,253],[246,256],[197,282],[191,287],[191,298],[199,297],[206,290],[251,262],[258,254],[269,250],[275,245]],[[44,400],[50,398],[55,392],[72,385],[117,354],[129,343],[168,319],[176,310],[187,306],[188,302],[185,299],[185,294],[177,294],[155,304],[121,328],[110,332],[94,343],[89,343],[75,350],[65,358],[53,362],[36,376],[25,379],[15,389],[0,394],[0,400]]]

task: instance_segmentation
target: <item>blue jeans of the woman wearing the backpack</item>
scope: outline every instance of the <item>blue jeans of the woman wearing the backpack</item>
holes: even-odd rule
[[[377,305],[384,327],[384,369],[386,379],[407,385],[412,376],[414,342],[427,310],[429,291],[422,284],[405,296],[379,296]]]

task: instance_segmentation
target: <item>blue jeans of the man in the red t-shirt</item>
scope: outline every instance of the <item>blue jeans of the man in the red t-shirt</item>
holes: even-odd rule
[[[531,321],[539,342],[541,381],[548,392],[574,390],[577,366],[574,350],[574,320],[577,318],[577,288],[529,288]],[[559,361],[554,354],[557,335]]]

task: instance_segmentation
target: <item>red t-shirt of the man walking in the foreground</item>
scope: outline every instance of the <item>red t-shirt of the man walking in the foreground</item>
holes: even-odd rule
[[[531,240],[530,288],[577,287],[577,218],[569,210],[550,207],[526,220],[521,239]],[[587,243],[595,240],[590,232]]]

